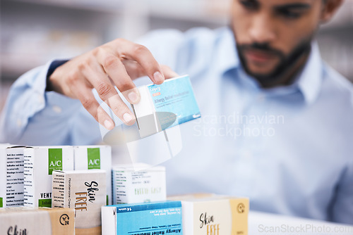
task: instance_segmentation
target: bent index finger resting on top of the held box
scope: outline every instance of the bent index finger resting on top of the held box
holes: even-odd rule
[[[157,63],[152,53],[145,47],[125,39],[116,39],[114,41],[119,44],[116,48],[117,55],[121,59],[128,59],[136,61],[145,70],[146,75],[155,84],[162,84],[164,82],[164,75],[160,64]]]

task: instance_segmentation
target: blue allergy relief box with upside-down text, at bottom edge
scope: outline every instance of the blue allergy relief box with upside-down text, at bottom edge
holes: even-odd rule
[[[179,201],[102,207],[102,235],[183,234],[181,222]]]

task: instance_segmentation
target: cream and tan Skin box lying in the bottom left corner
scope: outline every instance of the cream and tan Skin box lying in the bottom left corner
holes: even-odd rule
[[[0,208],[0,234],[73,235],[73,209]]]

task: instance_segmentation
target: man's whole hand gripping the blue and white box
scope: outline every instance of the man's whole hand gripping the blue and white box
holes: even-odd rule
[[[145,75],[155,84],[161,84],[164,78],[177,76],[167,66],[157,63],[145,46],[115,39],[56,68],[49,77],[49,83],[54,91],[79,99],[97,122],[107,129],[113,129],[112,118],[96,101],[92,89],[97,90],[100,99],[107,103],[118,118],[126,125],[133,125],[134,115],[114,86],[129,103],[138,103],[140,94],[132,80]]]

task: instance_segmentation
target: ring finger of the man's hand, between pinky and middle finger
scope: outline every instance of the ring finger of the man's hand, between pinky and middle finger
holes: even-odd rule
[[[95,70],[87,68],[85,72],[83,72],[83,75],[85,75],[86,79],[95,87],[100,99],[107,103],[121,121],[126,125],[133,125],[133,123],[135,123],[133,113],[126,106],[124,101],[121,100],[112,82],[110,82],[109,77],[104,73],[102,68],[96,68]]]

